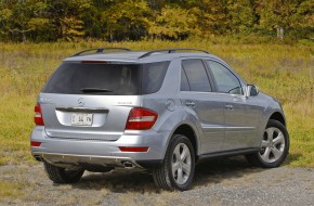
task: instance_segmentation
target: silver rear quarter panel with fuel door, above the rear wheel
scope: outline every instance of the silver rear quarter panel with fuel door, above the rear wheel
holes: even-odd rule
[[[186,110],[182,106],[182,102],[179,98],[180,90],[180,70],[181,61],[174,59],[171,61],[167,74],[165,76],[160,90],[153,94],[143,95],[143,107],[149,108],[158,113],[158,120],[154,125],[153,129],[159,132],[168,131],[169,136],[163,137],[162,149],[166,154],[169,141],[181,125],[188,125],[194,132],[196,132],[197,142],[199,136],[199,129],[195,125],[195,116],[186,113]],[[167,132],[167,133],[168,133]],[[199,147],[199,145],[198,145]]]

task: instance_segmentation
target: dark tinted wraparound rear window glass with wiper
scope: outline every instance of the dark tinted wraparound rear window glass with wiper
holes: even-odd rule
[[[103,64],[64,62],[43,87],[44,93],[140,95],[157,92],[169,62]]]

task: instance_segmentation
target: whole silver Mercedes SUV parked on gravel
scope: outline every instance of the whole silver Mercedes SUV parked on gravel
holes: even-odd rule
[[[272,168],[289,151],[280,104],[197,49],[77,53],[43,87],[35,123],[32,156],[56,183],[142,168],[183,191],[202,159],[245,155]]]

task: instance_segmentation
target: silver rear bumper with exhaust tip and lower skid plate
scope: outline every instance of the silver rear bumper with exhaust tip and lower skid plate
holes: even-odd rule
[[[52,165],[75,168],[83,165],[102,167],[147,168],[162,163],[170,132],[126,131],[117,141],[74,140],[48,137],[43,127],[35,127],[31,146],[35,158]],[[121,152],[119,146],[147,146],[147,152]]]

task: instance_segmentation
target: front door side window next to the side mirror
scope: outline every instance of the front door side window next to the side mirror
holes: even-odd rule
[[[208,64],[215,79],[218,92],[243,94],[241,85],[234,74],[217,62],[208,61]]]

